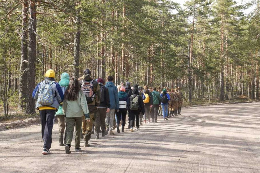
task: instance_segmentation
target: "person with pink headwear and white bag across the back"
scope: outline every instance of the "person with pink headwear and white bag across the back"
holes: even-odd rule
[[[126,113],[130,105],[130,97],[128,97],[128,94],[125,91],[126,89],[121,87],[120,91],[118,92],[119,111],[117,112],[117,133],[120,133],[119,125],[121,120],[122,132],[124,132],[124,126],[126,124]]]

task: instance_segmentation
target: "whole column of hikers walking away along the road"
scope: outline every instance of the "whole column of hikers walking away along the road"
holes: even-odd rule
[[[84,139],[85,147],[89,147],[91,134],[99,139],[100,132],[102,137],[113,135],[115,129],[120,133],[120,125],[121,132],[125,132],[127,113],[131,132],[134,127],[140,130],[140,125],[157,123],[158,116],[168,120],[180,115],[184,98],[180,88],[138,87],[138,84],[131,87],[129,81],[115,86],[113,79],[108,76],[104,83],[101,78],[91,77],[90,69],[86,69],[78,79],[70,78],[64,72],[57,83],[55,71],[46,71],[45,79],[32,93],[41,119],[42,154],[50,153],[55,116],[59,126],[59,146],[65,146],[65,152],[69,154],[74,128],[75,151],[80,151],[80,140]]]

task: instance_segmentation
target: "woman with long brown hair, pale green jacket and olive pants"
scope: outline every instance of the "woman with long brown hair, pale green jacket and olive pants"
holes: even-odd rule
[[[70,154],[70,147],[74,132],[75,135],[75,151],[80,151],[80,136],[81,136],[81,125],[82,115],[85,115],[87,122],[90,121],[90,114],[88,111],[88,103],[86,97],[80,89],[79,82],[76,78],[71,78],[67,90],[64,94],[63,101],[63,113],[66,115],[66,146],[65,151]]]

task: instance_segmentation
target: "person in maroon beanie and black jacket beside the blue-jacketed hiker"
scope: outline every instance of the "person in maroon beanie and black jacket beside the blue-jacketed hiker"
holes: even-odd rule
[[[106,114],[110,108],[109,102],[109,92],[108,89],[104,86],[104,80],[102,78],[97,79],[97,82],[100,87],[100,105],[97,107],[97,115],[95,119],[95,139],[99,139],[99,129],[101,126],[102,137],[108,134],[106,131]]]

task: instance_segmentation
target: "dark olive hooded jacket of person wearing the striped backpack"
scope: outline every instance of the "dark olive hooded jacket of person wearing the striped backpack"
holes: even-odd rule
[[[100,104],[100,87],[99,87],[97,81],[95,81],[93,79],[93,77],[91,77],[90,75],[83,75],[81,78],[82,78],[84,83],[92,81],[92,84],[93,84],[93,90],[95,92],[95,100],[92,103],[88,104],[88,109],[89,109],[89,111],[91,113],[90,106],[91,105],[92,106],[99,106],[99,104]],[[80,86],[83,83],[82,80],[79,81]]]

